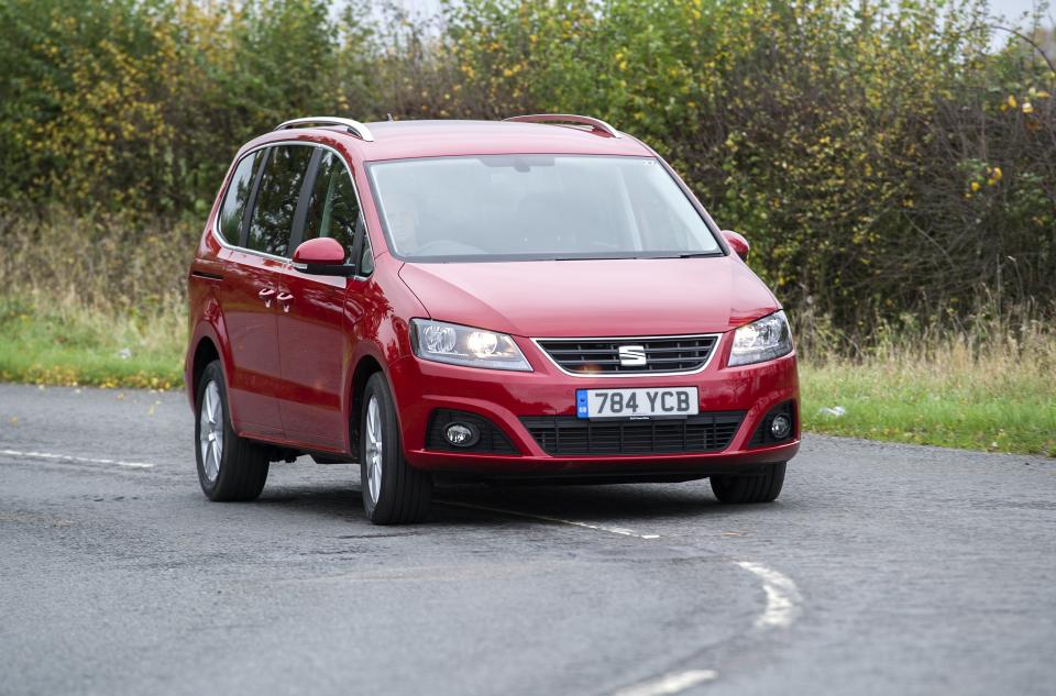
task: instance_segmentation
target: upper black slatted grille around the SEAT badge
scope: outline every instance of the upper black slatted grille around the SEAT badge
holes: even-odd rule
[[[707,363],[717,342],[717,335],[537,341],[565,372],[602,376],[696,372]],[[625,353],[622,358],[620,346],[631,354]],[[644,355],[645,362],[635,364],[640,362],[635,354]]]

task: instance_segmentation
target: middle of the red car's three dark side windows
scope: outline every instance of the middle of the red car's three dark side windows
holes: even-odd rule
[[[246,248],[286,256],[289,233],[297,211],[297,197],[305,181],[314,148],[306,145],[277,145],[267,151],[264,174],[250,218]]]

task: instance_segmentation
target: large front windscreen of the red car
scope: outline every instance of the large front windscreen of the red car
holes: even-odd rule
[[[389,250],[418,262],[722,254],[652,157],[487,155],[369,167]]]

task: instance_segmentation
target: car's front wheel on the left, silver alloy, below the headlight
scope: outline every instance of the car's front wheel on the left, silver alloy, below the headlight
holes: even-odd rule
[[[382,373],[366,382],[360,418],[360,480],[366,518],[375,524],[425,520],[432,478],[404,459],[396,405]]]

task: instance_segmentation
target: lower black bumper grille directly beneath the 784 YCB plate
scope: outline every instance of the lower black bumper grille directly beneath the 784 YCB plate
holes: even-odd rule
[[[745,411],[684,420],[590,421],[574,416],[532,416],[520,421],[547,454],[679,454],[729,446]]]

